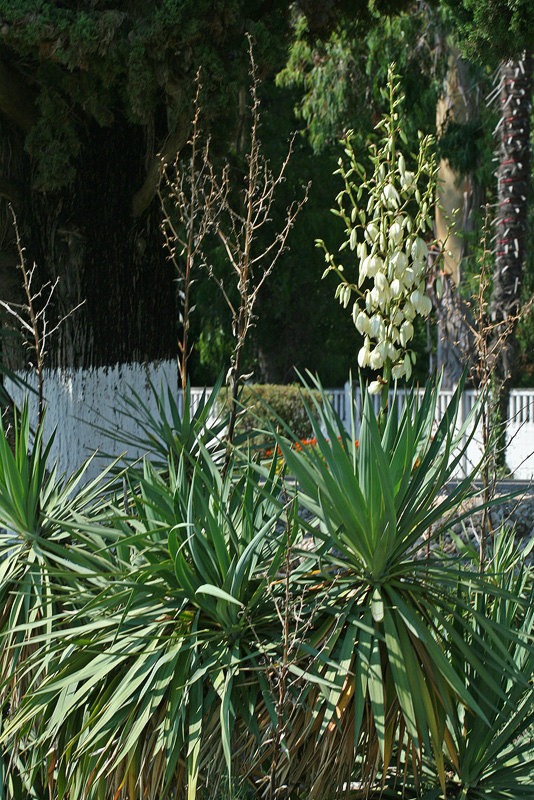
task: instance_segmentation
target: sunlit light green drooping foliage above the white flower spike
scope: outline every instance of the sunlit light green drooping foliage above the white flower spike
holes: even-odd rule
[[[380,87],[391,62],[397,63],[403,76],[402,90],[411,110],[406,125],[410,145],[415,146],[419,129],[435,132],[440,74],[435,72],[430,48],[418,45],[437,23],[428,7],[420,14],[394,17],[382,17],[375,10],[370,28],[362,29],[347,18],[321,41],[310,40],[305,18],[298,19],[288,62],[277,82],[298,89],[297,116],[305,121],[315,152],[348,129],[355,132],[356,149],[365,146],[386,108]]]

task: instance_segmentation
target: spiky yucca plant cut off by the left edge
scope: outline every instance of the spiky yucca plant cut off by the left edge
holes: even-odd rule
[[[13,450],[0,421],[0,718],[4,727],[6,716],[17,708],[28,685],[38,683],[46,672],[45,663],[37,669],[30,666],[36,636],[61,627],[64,615],[76,609],[91,586],[93,591],[100,590],[99,575],[109,558],[64,528],[84,515],[102,513],[102,481],[82,483],[87,464],[69,478],[58,477],[56,466],[50,463],[53,437],[43,441],[43,423],[32,436],[27,405],[20,417],[15,414],[10,438]],[[27,744],[31,738],[29,734]],[[0,797],[8,791],[6,797],[22,796],[18,792],[23,785],[30,797],[34,789],[44,791],[46,761],[35,758],[31,746],[23,754],[11,742],[9,755],[1,758],[4,788]],[[25,775],[20,771],[23,763]]]

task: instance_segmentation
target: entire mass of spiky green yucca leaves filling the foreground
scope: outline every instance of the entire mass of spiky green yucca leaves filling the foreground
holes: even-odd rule
[[[209,415],[186,404],[178,424],[162,398],[150,420],[139,407],[162,468],[130,469],[120,503],[111,486],[52,490],[48,445],[29,445],[24,416],[14,456],[0,440],[2,800],[282,786],[323,800],[354,780],[374,796],[382,777],[393,796],[397,758],[410,797],[460,763],[467,785],[467,734],[491,741],[482,788],[499,763],[501,786],[521,785],[530,750],[514,767],[509,742],[530,719],[530,577],[506,566],[510,548],[482,581],[478,564],[418,557],[472,491],[467,478],[443,494],[466,446],[461,389],[437,430],[439,386],[403,410],[395,399],[382,432],[367,395],[356,443],[321,385],[305,388],[317,446],[299,451],[271,425],[298,489],[247,452],[223,475]],[[315,550],[299,549],[305,535]]]

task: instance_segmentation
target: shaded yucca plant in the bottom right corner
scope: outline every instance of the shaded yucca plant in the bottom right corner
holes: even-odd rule
[[[530,548],[532,544],[530,545]],[[471,554],[477,560],[477,554]],[[469,553],[464,552],[468,557]],[[461,705],[453,707],[450,736],[443,757],[447,775],[447,797],[461,800],[521,800],[532,796],[534,785],[534,653],[530,646],[534,632],[534,587],[525,554],[517,550],[513,531],[497,532],[493,552],[485,570],[485,594],[470,597],[475,614],[471,617],[469,651],[453,662],[458,677],[480,704],[484,714],[474,714]],[[480,626],[478,620],[488,621]],[[502,639],[502,629],[513,632]],[[503,650],[512,661],[520,680],[497,668]],[[478,664],[491,672],[495,687],[488,686]],[[429,775],[437,783],[434,765],[425,761],[422,792],[425,800],[441,796],[429,787]]]

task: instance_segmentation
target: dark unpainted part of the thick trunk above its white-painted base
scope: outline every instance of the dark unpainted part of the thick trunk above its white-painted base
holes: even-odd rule
[[[154,156],[146,130],[121,120],[106,128],[87,122],[85,131],[75,183],[57,192],[32,186],[21,134],[6,122],[1,132],[0,175],[18,187],[27,261],[37,264],[40,283],[59,279],[49,327],[83,302],[54,334],[46,364],[90,368],[172,357],[176,276],[162,247],[159,208],[156,202],[137,218],[132,213],[132,198]],[[0,237],[2,251],[12,258],[5,206]],[[6,298],[14,269],[3,280],[3,299],[18,299]]]

